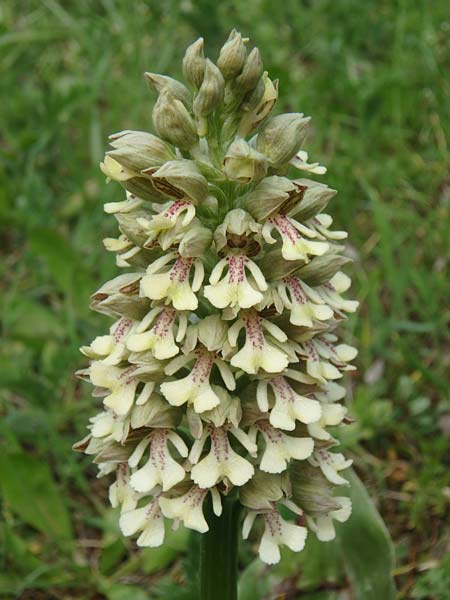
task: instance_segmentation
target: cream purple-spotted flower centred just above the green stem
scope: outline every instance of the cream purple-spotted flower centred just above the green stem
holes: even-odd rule
[[[209,425],[205,428],[202,437],[194,442],[189,454],[189,460],[194,464],[191,478],[199,487],[212,488],[224,479],[232,485],[241,486],[253,476],[255,472],[253,465],[233,450],[228,432],[234,435],[248,452],[256,453],[256,445],[244,431],[238,428]],[[211,449],[204,458],[199,460],[207,438],[211,440]]]

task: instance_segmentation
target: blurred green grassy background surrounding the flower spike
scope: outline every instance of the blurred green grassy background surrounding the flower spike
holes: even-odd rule
[[[214,59],[232,27],[279,78],[277,110],[313,117],[307,149],[339,190],[362,302],[343,443],[394,539],[399,597],[450,597],[448,1],[4,0],[1,598],[172,599],[189,579],[185,534],[133,552],[107,482],[71,451],[95,413],[73,371],[109,326],[89,295],[117,273],[101,243],[116,230],[102,204],[122,198],[98,168],[107,135],[151,127],[145,70],[180,76],[193,39]],[[297,597],[289,560],[264,597]]]

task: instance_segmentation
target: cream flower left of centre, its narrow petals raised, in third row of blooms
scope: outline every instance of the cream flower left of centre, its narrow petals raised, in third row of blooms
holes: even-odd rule
[[[175,324],[178,329],[175,336]],[[150,329],[149,329],[150,328]],[[187,316],[173,308],[153,308],[127,339],[127,348],[133,352],[150,350],[158,360],[172,358],[179,352],[175,342],[182,342],[187,328]]]

